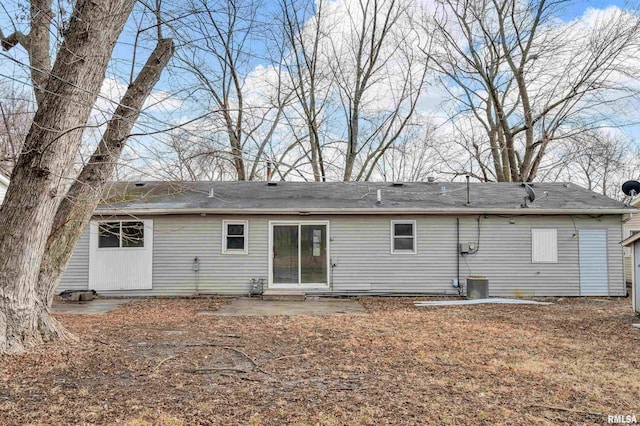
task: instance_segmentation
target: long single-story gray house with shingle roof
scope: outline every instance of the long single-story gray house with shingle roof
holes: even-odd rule
[[[624,296],[623,216],[569,183],[120,182],[59,291]]]

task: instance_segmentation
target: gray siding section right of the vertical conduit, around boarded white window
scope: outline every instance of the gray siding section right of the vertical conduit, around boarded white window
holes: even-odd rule
[[[480,250],[463,262],[463,275],[485,275],[492,296],[578,296],[580,294],[579,229],[606,229],[608,237],[609,290],[624,295],[622,278],[622,221],[620,216],[577,218],[566,216],[481,219]],[[468,221],[467,221],[468,222]],[[531,262],[531,228],[558,230],[558,262]],[[576,234],[576,237],[573,235]],[[465,224],[462,235],[474,241],[473,226]]]

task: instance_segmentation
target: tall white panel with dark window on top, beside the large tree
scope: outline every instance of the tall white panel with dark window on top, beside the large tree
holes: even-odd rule
[[[153,220],[92,221],[89,247],[89,289],[151,289]]]

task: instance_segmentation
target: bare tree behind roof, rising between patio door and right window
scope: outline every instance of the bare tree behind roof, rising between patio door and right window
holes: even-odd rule
[[[342,13],[343,34],[332,38],[329,56],[346,126],[342,179],[368,180],[411,124],[427,72],[416,51],[429,47],[409,2],[359,0]]]

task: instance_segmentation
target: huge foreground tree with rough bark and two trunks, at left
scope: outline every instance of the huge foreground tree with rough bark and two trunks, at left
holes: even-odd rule
[[[0,353],[66,335],[49,316],[53,291],[142,103],[173,52],[170,39],[158,41],[63,201],[82,131],[133,6],[129,0],[77,2],[50,70],[51,2],[32,2],[28,35],[0,34],[5,49],[20,44],[29,52],[38,102],[0,209]]]

